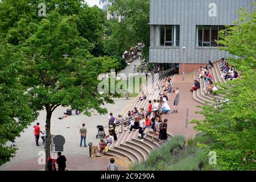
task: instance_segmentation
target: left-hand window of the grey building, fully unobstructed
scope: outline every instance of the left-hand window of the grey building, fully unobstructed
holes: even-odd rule
[[[159,26],[159,46],[180,46],[180,26]]]

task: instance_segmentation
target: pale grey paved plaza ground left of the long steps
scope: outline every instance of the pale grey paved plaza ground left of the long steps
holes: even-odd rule
[[[126,100],[124,98],[115,99],[115,104],[107,104],[105,107],[108,109],[109,113],[113,113],[115,116],[118,114],[123,114],[123,112],[129,107],[133,100]],[[84,114],[75,115],[75,111],[72,112],[71,116],[68,116],[64,119],[57,119],[63,116],[64,111],[67,108],[58,107],[52,114],[51,122],[51,133],[53,135],[63,135],[65,138],[64,152],[63,155],[85,155],[89,156],[89,147],[79,147],[80,145],[80,134],[79,128],[82,123],[85,123],[85,127],[88,129],[88,134],[86,136],[86,144],[92,142],[93,145],[98,145],[100,139],[96,139],[97,134],[97,125],[107,125],[108,124],[108,114],[100,115],[94,114],[92,117],[87,117]],[[40,115],[37,121],[33,122],[27,129],[21,133],[19,138],[16,138],[16,155],[14,158],[0,166],[0,170],[6,170],[11,166],[22,162],[23,160],[39,157],[39,152],[44,151],[44,146],[42,139],[39,139],[39,144],[41,146],[35,145],[35,139],[33,135],[36,122],[40,123],[41,130],[44,129],[46,118],[46,111],[40,111]],[[69,128],[67,128],[69,126]],[[105,132],[108,133],[108,129],[105,129]]]

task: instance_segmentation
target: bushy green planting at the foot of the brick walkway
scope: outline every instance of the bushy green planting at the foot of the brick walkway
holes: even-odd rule
[[[151,152],[148,160],[134,164],[133,171],[212,171],[217,170],[208,163],[208,153],[197,146],[197,143],[208,143],[209,137],[203,133],[188,140],[177,136],[168,141],[166,146]]]

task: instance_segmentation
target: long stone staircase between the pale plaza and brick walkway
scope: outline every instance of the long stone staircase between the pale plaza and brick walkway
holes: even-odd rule
[[[154,99],[159,98],[159,93],[162,93],[163,88],[163,81],[164,77],[172,76],[173,78],[173,69],[169,69],[167,71],[164,71],[159,74],[159,86],[160,86],[160,92],[159,90],[156,90],[152,92],[152,77],[148,79],[147,86],[146,86],[146,100],[139,101],[139,95],[134,99],[133,103],[129,106],[129,108],[126,110],[126,113],[124,114],[124,117],[127,117],[127,113],[129,110],[133,110],[134,107],[137,107],[137,109],[141,109],[142,107],[144,110],[147,110],[148,107],[148,101],[153,101]],[[155,76],[154,76],[155,77]],[[146,134],[146,137],[144,137],[144,141],[141,142],[141,134],[138,133],[138,131],[133,130],[131,133],[129,133],[129,129],[126,127],[123,127],[123,132],[121,133],[121,125],[117,126],[117,141],[114,141],[111,146],[109,147],[109,151],[105,152],[104,155],[106,156],[115,156],[117,158],[127,158],[130,160],[131,163],[141,163],[148,159],[148,156],[150,155],[151,151],[155,148],[159,147],[159,139],[154,138],[154,142],[152,142],[152,134],[153,132],[150,130],[150,128],[147,128],[144,131],[144,134]],[[168,139],[172,137],[171,134],[167,133]],[[100,154],[97,154],[97,156],[101,156]]]

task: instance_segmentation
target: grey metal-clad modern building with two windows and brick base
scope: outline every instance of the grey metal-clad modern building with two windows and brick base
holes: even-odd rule
[[[253,2],[150,0],[150,63],[178,63],[179,72],[188,73],[209,60],[232,57],[218,50],[218,31],[234,25],[240,8],[252,11]]]

